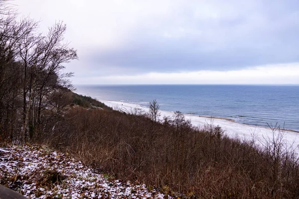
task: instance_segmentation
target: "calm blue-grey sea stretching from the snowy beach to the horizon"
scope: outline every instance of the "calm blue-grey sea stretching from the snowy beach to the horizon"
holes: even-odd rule
[[[98,100],[147,106],[156,99],[161,110],[218,116],[268,126],[278,123],[299,131],[299,86],[249,85],[76,85],[77,93]]]

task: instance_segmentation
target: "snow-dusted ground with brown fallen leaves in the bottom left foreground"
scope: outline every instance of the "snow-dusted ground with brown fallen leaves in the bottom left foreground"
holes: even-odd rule
[[[0,184],[30,199],[171,198],[145,185],[109,180],[68,154],[43,146],[0,148]]]

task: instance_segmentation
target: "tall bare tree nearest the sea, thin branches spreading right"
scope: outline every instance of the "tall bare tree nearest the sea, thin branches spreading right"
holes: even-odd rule
[[[76,50],[69,48],[68,43],[62,43],[65,31],[66,25],[58,22],[49,28],[47,35],[31,33],[20,45],[20,61],[24,65],[24,73],[29,72],[23,92],[24,141],[27,139],[27,129],[32,138],[34,132],[29,127],[41,123],[41,111],[47,106],[46,96],[66,83],[65,78],[72,76],[71,73],[61,73],[64,63],[78,58]]]

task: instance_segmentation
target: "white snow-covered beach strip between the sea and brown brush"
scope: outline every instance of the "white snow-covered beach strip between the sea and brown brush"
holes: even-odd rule
[[[149,112],[148,107],[142,107],[139,104],[126,103],[123,101],[105,101],[101,100],[106,105],[116,109],[116,110],[134,110],[135,108],[141,108],[145,112]],[[173,116],[173,112],[160,110],[160,119],[164,116]],[[240,138],[242,140],[252,140],[253,136],[257,143],[264,143],[265,139],[272,137],[273,131],[269,127],[264,126],[253,126],[247,124],[236,123],[230,119],[224,118],[210,118],[204,116],[188,115],[185,114],[185,118],[190,120],[193,126],[204,127],[210,125],[211,123],[215,126],[219,125],[225,133],[232,138]],[[278,130],[276,130],[278,134]],[[299,133],[294,131],[284,131],[285,141],[292,145],[293,149],[299,151]]]

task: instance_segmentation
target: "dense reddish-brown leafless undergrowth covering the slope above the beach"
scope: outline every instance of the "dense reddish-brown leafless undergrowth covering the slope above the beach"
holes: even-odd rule
[[[81,107],[67,114],[72,119],[39,142],[115,178],[186,198],[299,197],[298,159],[280,129],[273,129],[273,138],[261,147],[231,139],[219,126],[199,129],[175,118],[157,123]]]

